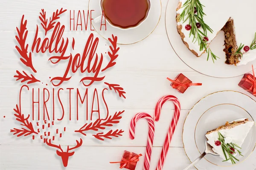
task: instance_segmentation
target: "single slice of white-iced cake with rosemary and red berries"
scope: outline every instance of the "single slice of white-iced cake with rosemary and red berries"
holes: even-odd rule
[[[236,164],[239,160],[235,156],[243,156],[240,149],[253,125],[254,122],[247,118],[237,119],[210,130],[205,136],[215,153],[218,153],[224,161]]]

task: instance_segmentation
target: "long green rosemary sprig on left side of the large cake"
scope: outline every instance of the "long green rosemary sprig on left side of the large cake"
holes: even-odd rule
[[[200,51],[206,50],[206,52],[208,53],[207,61],[209,59],[209,54],[211,54],[212,61],[214,62],[214,60],[219,57],[213,54],[209,47],[209,50],[207,51],[207,41],[204,40],[204,37],[207,37],[207,31],[210,31],[211,33],[213,31],[204,22],[204,15],[206,14],[203,11],[203,6],[204,5],[202,5],[199,0],[187,0],[183,4],[182,8],[184,9],[177,17],[177,19],[183,20],[183,23],[189,20],[189,25],[191,26],[189,37],[193,35],[194,37],[192,42],[198,42],[198,45],[200,45]],[[195,8],[197,9],[197,14],[194,13]],[[202,29],[197,28],[196,23],[200,23]]]

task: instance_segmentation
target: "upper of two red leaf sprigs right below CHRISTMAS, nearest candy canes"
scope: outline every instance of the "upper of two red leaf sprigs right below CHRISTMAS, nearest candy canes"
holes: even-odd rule
[[[82,126],[79,130],[75,130],[75,132],[79,132],[81,134],[83,134],[84,136],[86,136],[86,134],[84,133],[84,131],[87,130],[95,130],[98,131],[99,129],[103,130],[106,128],[106,126],[110,127],[113,126],[113,124],[119,123],[119,119],[122,118],[122,116],[120,116],[122,113],[124,113],[124,111],[119,111],[118,113],[116,112],[113,117],[109,116],[108,119],[103,122],[103,119],[97,119],[94,123],[90,123],[90,124],[85,124],[84,126]]]

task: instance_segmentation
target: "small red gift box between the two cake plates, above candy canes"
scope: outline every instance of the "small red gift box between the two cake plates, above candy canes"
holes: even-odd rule
[[[192,81],[184,76],[182,73],[178,74],[174,80],[168,77],[167,79],[172,82],[172,88],[175,88],[180,93],[184,93],[186,89],[192,85],[202,85],[202,83],[192,83]]]

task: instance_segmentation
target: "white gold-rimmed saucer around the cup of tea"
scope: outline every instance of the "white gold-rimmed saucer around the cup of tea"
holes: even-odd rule
[[[92,13],[92,18],[96,18],[102,15],[100,0],[89,0],[88,8],[89,10],[94,10]],[[107,30],[105,31],[105,26],[103,26],[102,30],[100,30],[100,22],[95,23],[94,20],[92,21],[92,25],[95,31],[98,32],[106,40],[108,40],[108,38],[114,34],[114,36],[117,36],[118,44],[133,44],[144,40],[154,31],[159,23],[161,11],[161,0],[150,0],[150,8],[147,18],[135,28],[120,29],[111,26],[110,23],[106,22]]]

